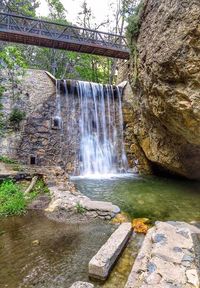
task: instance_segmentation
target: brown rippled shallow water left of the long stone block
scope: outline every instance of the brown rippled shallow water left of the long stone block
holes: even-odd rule
[[[102,222],[57,223],[36,213],[0,220],[0,287],[68,288],[88,281],[88,262],[114,229]]]

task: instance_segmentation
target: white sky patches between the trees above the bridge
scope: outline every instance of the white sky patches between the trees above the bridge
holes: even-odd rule
[[[83,0],[61,0],[62,4],[67,10],[67,20],[76,23],[78,13],[81,10],[81,4]],[[100,24],[107,19],[107,15],[111,15],[111,9],[109,5],[111,2],[117,2],[116,0],[87,0],[88,7],[92,9],[92,13],[96,18],[96,23]],[[40,0],[40,7],[37,10],[39,16],[48,15],[48,6],[45,0]]]

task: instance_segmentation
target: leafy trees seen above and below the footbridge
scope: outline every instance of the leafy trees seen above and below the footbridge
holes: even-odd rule
[[[61,1],[46,1],[49,6],[50,14],[44,19],[53,20],[54,22],[67,25],[68,21],[66,19],[66,10]],[[17,13],[26,14],[29,16],[35,16],[35,11],[38,7],[38,0],[6,0],[4,2]],[[92,15],[92,11],[88,7],[87,2],[84,1],[82,3],[77,22],[79,26],[99,29],[100,27],[104,27],[107,23],[108,20],[100,24],[96,24],[95,18]],[[5,44],[0,44],[2,51],[7,49],[6,47],[7,46]],[[13,47],[13,49],[18,51],[21,56],[23,55],[22,58],[26,59],[26,61],[23,59],[21,60],[27,64],[28,68],[48,70],[57,78],[73,78],[102,83],[108,83],[109,81],[113,82],[113,79],[111,80],[111,78],[109,78],[112,63],[112,59],[110,58],[20,44],[9,44],[8,47],[10,47],[9,49]],[[18,66],[21,65],[18,64]],[[13,69],[10,69],[10,76],[12,76],[12,72]]]

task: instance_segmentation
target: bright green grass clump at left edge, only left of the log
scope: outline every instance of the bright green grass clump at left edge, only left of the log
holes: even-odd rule
[[[20,215],[25,212],[26,201],[23,192],[11,180],[0,185],[0,217]]]

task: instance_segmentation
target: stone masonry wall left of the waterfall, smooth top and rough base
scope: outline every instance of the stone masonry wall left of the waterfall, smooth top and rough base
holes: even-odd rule
[[[68,139],[66,121],[67,103],[61,95],[62,123],[61,129],[53,127],[56,114],[56,87],[45,71],[27,70],[21,81],[20,100],[16,105],[26,112],[26,119],[19,130],[8,129],[0,139],[0,154],[30,164],[35,158],[37,165],[62,166],[72,172],[75,161],[76,145]],[[10,90],[4,95],[4,113],[12,109]],[[70,105],[70,103],[68,103]],[[71,117],[71,115],[70,115]],[[32,158],[32,160],[31,160]]]

